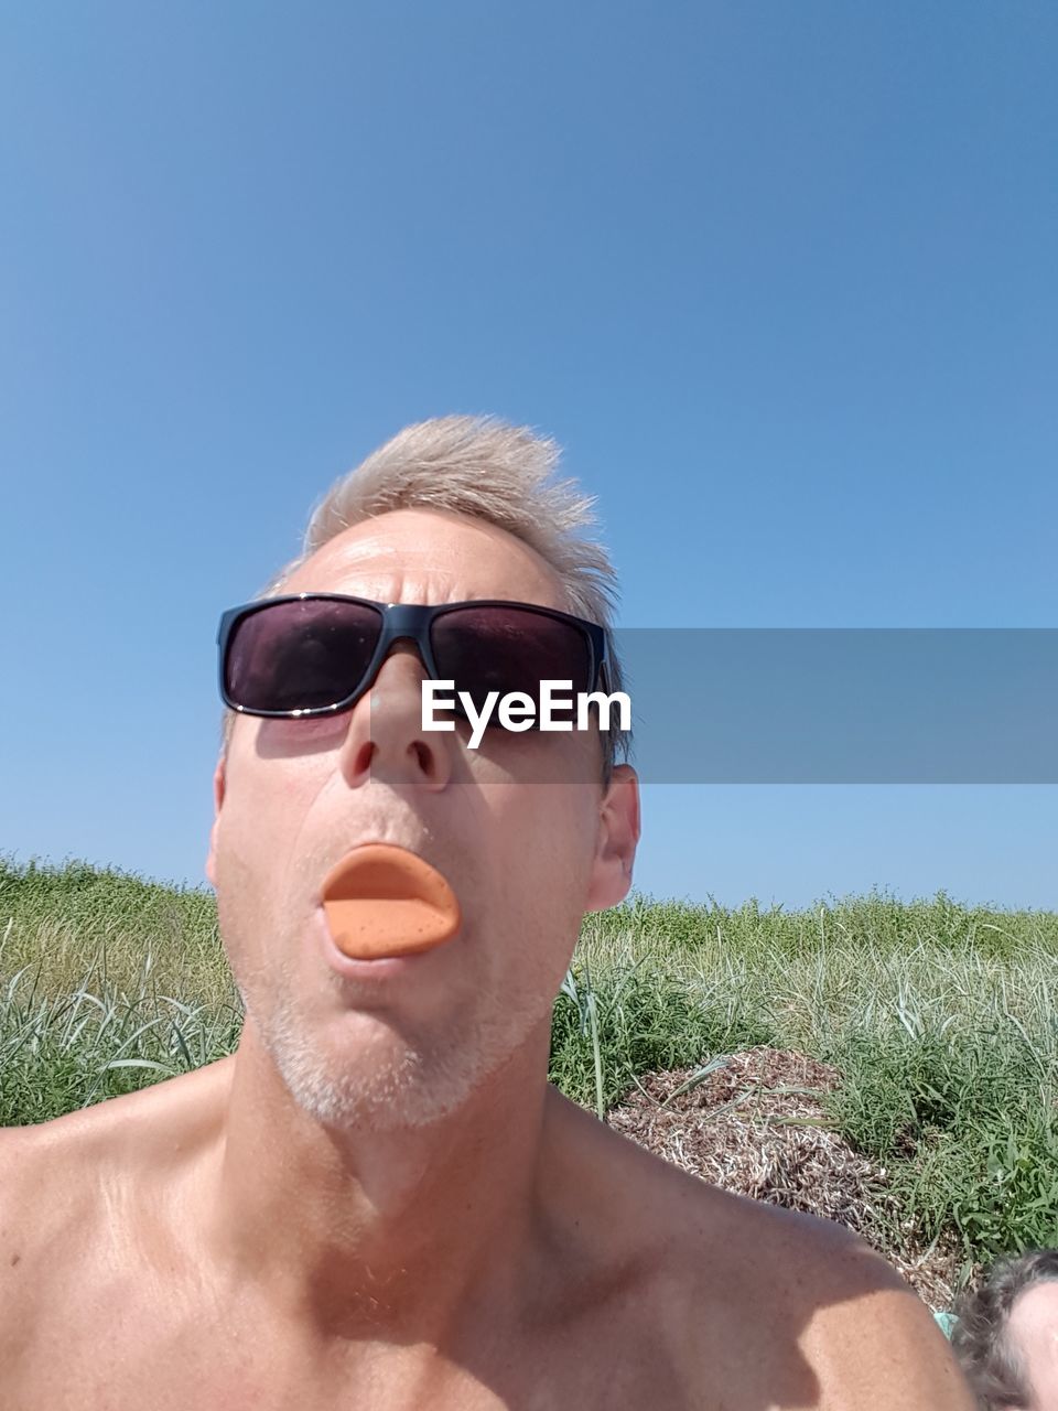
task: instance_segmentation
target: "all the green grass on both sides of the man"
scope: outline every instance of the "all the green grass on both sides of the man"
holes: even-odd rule
[[[585,919],[550,1077],[605,1110],[655,1068],[759,1043],[834,1064],[831,1118],[923,1237],[969,1263],[1058,1243],[1058,916],[872,895],[804,912],[652,902]],[[230,1053],[209,893],[0,859],[0,1122]]]

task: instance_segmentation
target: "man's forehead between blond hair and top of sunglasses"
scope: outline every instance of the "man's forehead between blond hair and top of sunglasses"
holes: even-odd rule
[[[559,576],[495,525],[437,509],[395,509],[336,535],[284,593],[350,593],[382,602],[513,598],[567,607]]]

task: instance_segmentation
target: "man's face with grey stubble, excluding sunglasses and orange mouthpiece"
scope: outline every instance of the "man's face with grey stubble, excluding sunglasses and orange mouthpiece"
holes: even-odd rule
[[[284,591],[567,607],[526,545],[419,509],[346,531]],[[471,751],[468,727],[422,729],[423,676],[405,642],[351,711],[240,717],[217,772],[207,873],[247,1026],[296,1101],[341,1126],[416,1126],[466,1101],[549,1023],[583,914],[631,882],[635,779],[619,769],[604,792],[597,735],[497,727]],[[419,854],[463,913],[392,978],[327,959],[320,889],[364,842]]]

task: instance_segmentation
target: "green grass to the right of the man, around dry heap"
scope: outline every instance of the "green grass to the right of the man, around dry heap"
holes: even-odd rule
[[[663,1050],[660,1015],[681,1015],[674,1064],[755,1041],[798,1048],[841,1072],[831,1116],[886,1167],[924,1239],[954,1233],[968,1266],[1058,1243],[1058,916],[942,893],[793,913],[640,899],[585,921],[577,974],[591,976],[607,1102],[639,1071],[640,1033],[652,1057]],[[553,1062],[592,1103],[576,1010],[560,996],[556,1027],[580,1047]]]

